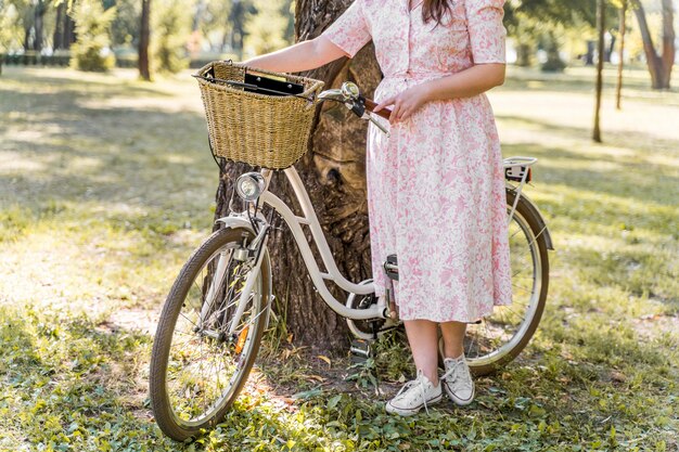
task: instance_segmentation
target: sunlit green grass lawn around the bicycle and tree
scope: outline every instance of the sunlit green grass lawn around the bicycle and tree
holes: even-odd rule
[[[388,416],[380,400],[412,375],[400,340],[350,366],[279,323],[259,391],[179,444],[146,379],[159,306],[213,218],[195,82],[7,67],[0,450],[679,450],[679,93],[630,70],[616,112],[607,73],[595,145],[592,76],[512,69],[490,93],[504,155],[540,159],[528,194],[556,250],[535,339],[470,408]]]

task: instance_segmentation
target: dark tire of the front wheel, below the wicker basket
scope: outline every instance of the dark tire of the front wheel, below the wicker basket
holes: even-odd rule
[[[170,400],[170,393],[168,393],[170,392],[168,390],[168,366],[169,366],[169,359],[170,359],[170,347],[172,345],[172,338],[175,337],[178,318],[180,317],[180,314],[182,314],[182,308],[187,308],[187,304],[190,305],[190,302],[187,301],[188,294],[190,289],[193,289],[193,286],[196,284],[196,279],[200,277],[202,271],[206,269],[206,267],[208,266],[208,262],[210,262],[215,256],[217,256],[220,253],[223,253],[221,251],[223,249],[235,249],[234,244],[240,245],[243,242],[243,240],[251,241],[253,238],[254,238],[253,232],[245,228],[236,228],[236,229],[227,228],[227,229],[221,229],[221,230],[214,232],[209,237],[207,237],[203,242],[202,245],[200,245],[193,251],[191,257],[187,260],[181,271],[179,272],[179,275],[177,276],[172,285],[172,288],[170,289],[167,296],[167,299],[165,301],[163,311],[161,313],[158,326],[156,330],[155,339],[153,343],[149,385],[150,385],[151,405],[152,405],[155,421],[158,427],[161,427],[161,430],[165,435],[167,435],[168,437],[175,440],[183,441],[187,438],[190,438],[198,434],[202,428],[212,428],[216,424],[218,424],[223,418],[225,414],[227,413],[229,408],[233,404],[235,399],[239,397],[240,392],[242,391],[247,380],[251,370],[254,365],[255,359],[259,351],[261,336],[264,334],[264,331],[266,328],[266,323],[268,321],[267,319],[268,311],[266,310],[270,309],[269,304],[271,300],[271,269],[270,269],[269,255],[266,248],[261,250],[262,253],[265,253],[265,256],[262,256],[259,273],[254,276],[256,277],[256,280],[255,280],[255,285],[253,286],[252,294],[256,294],[257,292],[259,293],[259,296],[256,296],[256,295],[252,296],[252,306],[254,307],[252,311],[254,311],[254,313],[251,313],[251,317],[254,315],[254,321],[251,326],[246,325],[243,327],[243,331],[246,331],[245,332],[246,338],[244,339],[246,345],[243,346],[243,351],[240,354],[239,362],[236,364],[236,370],[234,371],[234,376],[231,377],[229,380],[230,386],[228,388],[228,391],[226,391],[225,393],[220,396],[221,399],[218,400],[218,403],[216,402],[209,415],[205,415],[203,417],[198,416],[197,421],[192,421],[193,417],[190,419],[184,419],[181,417],[180,414],[176,413],[176,408],[172,406],[172,401]],[[230,246],[234,246],[234,247],[230,248]],[[231,256],[233,254],[231,254]],[[223,255],[220,255],[220,259],[222,257]],[[229,262],[227,264],[230,266],[231,261],[232,261],[231,258],[229,258]],[[235,261],[235,259],[233,261]],[[207,271],[208,271],[207,274],[209,275],[209,270]],[[252,272],[252,269],[251,269],[251,272]],[[222,280],[223,277],[226,276],[222,276]],[[204,277],[204,281],[205,280],[208,280],[208,279]],[[219,281],[218,288],[216,289],[217,292],[222,290],[221,288],[222,284],[223,284],[223,281]],[[234,286],[235,283],[232,283],[231,285]],[[229,286],[228,288],[225,287],[223,292],[227,294],[234,292],[234,298],[235,298],[235,290],[232,289],[231,286]],[[251,294],[247,294],[248,302],[251,301],[249,296]],[[204,289],[202,289],[202,295],[200,297],[204,299],[205,297]],[[223,304],[225,301],[221,300],[219,302]],[[204,304],[204,301],[202,301],[202,304]],[[201,312],[203,312],[202,306],[200,309]],[[215,322],[219,322],[219,325],[222,325],[221,327],[223,327],[223,325],[227,323],[225,318],[229,309],[230,309],[230,306],[223,307],[223,313],[221,313],[222,308],[220,308],[219,311],[215,309],[214,312],[216,313],[215,315],[210,317],[210,319],[213,318],[218,319]],[[238,306],[234,308],[234,310],[238,310]],[[183,315],[185,318],[185,314]],[[203,315],[203,314],[201,313],[200,315]],[[200,357],[201,360],[203,360],[203,357],[204,357],[203,344],[205,344],[206,341],[212,340],[212,344],[209,346],[205,346],[206,349],[209,349],[209,348],[216,349],[218,347],[223,347],[222,348],[223,350],[226,347],[229,347],[231,345],[231,343],[229,343],[229,345],[223,346],[223,344],[226,343],[219,344],[218,339],[210,338],[212,336],[208,337],[206,335],[201,335],[197,332],[195,332],[195,328],[193,330],[194,330],[197,340],[201,344],[200,346],[201,353],[202,353]],[[221,334],[223,334],[223,332]],[[221,337],[221,334],[219,335],[219,337]],[[239,340],[241,340],[242,335],[243,333],[241,332],[239,334]],[[191,340],[193,339],[191,338],[185,339],[187,343]],[[227,356],[227,352],[225,351],[225,357],[226,356]],[[222,358],[225,363],[227,359],[228,358]],[[189,362],[185,365],[185,367],[188,369],[191,365],[195,365],[195,363]],[[225,364],[223,370],[227,371],[226,364]],[[220,384],[219,382],[220,371],[221,371],[221,367],[218,367],[217,369],[218,384]],[[200,383],[196,383],[196,387],[198,386],[200,386]],[[193,388],[191,386],[187,386],[187,390],[189,389],[193,389]],[[205,390],[205,392],[207,392],[207,390]],[[205,399],[205,396],[203,396],[203,398]]]

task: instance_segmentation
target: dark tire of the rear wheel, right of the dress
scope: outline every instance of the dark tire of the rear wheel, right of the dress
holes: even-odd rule
[[[507,190],[508,212],[511,210],[514,204],[514,199],[515,193],[511,190]],[[522,323],[520,324],[520,330],[507,343],[503,344],[503,349],[498,348],[497,350],[491,350],[489,353],[486,353],[485,357],[482,357],[485,359],[482,359],[478,357],[469,357],[469,350],[466,349],[465,345],[465,356],[467,356],[467,363],[472,374],[475,376],[492,374],[509,362],[513,361],[524,350],[524,348],[533,338],[542,318],[542,312],[545,311],[545,305],[549,289],[549,255],[547,240],[543,233],[543,222],[539,218],[539,214],[530,207],[529,202],[523,196],[518,199],[518,203],[516,205],[516,211],[512,221],[524,222],[524,227],[526,227],[530,231],[528,237],[534,238],[536,245],[534,259],[536,257],[539,259],[540,268],[540,274],[534,275],[534,288],[536,283],[539,283],[539,288],[535,290],[535,300],[531,300],[531,309],[529,311],[530,318],[523,319]],[[514,282],[512,284],[514,285]],[[486,321],[487,320],[484,320],[484,322]],[[472,325],[472,327],[474,326]],[[439,340],[439,350],[443,350],[443,340]],[[494,356],[492,353],[496,354]],[[443,357],[443,352],[439,354]]]

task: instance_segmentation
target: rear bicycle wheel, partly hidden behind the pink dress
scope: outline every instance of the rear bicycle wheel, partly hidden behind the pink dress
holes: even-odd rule
[[[515,193],[507,191],[508,215]],[[549,260],[545,227],[524,197],[509,223],[512,305],[467,326],[464,354],[474,375],[487,375],[518,356],[533,337],[545,310]],[[439,343],[443,345],[443,343]]]

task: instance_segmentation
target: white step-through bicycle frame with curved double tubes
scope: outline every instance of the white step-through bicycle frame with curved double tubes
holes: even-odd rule
[[[511,168],[511,167],[525,168],[525,171],[522,175],[522,180],[518,182],[516,186],[512,186],[512,190],[515,191],[516,196],[514,199],[514,204],[512,206],[512,210],[510,212],[510,221],[516,209],[516,205],[518,203],[518,198],[521,197],[523,188],[526,184],[527,177],[528,177],[528,167],[533,166],[536,163],[537,163],[537,158],[522,157],[522,156],[510,157],[503,160],[503,164],[502,164],[503,168]],[[309,198],[309,195],[306,189],[304,188],[304,184],[302,182],[302,179],[299,178],[299,175],[297,173],[294,167],[286,168],[283,170],[283,172],[285,173],[291,186],[293,188],[293,191],[295,193],[295,196],[297,197],[297,202],[299,203],[299,206],[302,206],[303,216],[302,217],[296,216],[292,211],[292,209],[287,206],[287,204],[285,204],[280,197],[278,197],[276,194],[271,193],[268,190],[269,182],[273,173],[273,171],[270,169],[265,168],[265,169],[261,169],[260,171],[261,176],[265,178],[266,185],[265,185],[264,192],[259,196],[259,199],[264,204],[268,204],[269,206],[271,206],[279,215],[281,215],[281,217],[283,217],[283,220],[285,221],[285,223],[287,224],[287,227],[293,233],[293,237],[299,248],[299,251],[302,253],[302,258],[304,259],[304,262],[307,267],[309,276],[311,277],[311,281],[313,282],[313,285],[317,288],[320,296],[323,298],[325,304],[328,304],[328,306],[333,311],[335,311],[336,313],[338,313],[340,315],[344,318],[351,319],[351,320],[386,319],[387,310],[386,310],[386,301],[384,300],[384,297],[381,297],[376,305],[368,309],[351,309],[351,308],[346,307],[345,304],[337,300],[330,293],[325,281],[332,281],[335,284],[337,284],[340,287],[342,287],[344,290],[348,292],[349,294],[356,294],[356,295],[372,294],[375,290],[375,286],[370,281],[356,284],[356,283],[348,281],[346,277],[344,277],[344,275],[340,272],[340,269],[337,268],[337,264],[332,255],[332,251],[330,250],[330,246],[328,245],[328,241],[325,240],[323,230],[321,229],[321,225],[318,221],[318,217],[316,216],[316,210],[313,209],[311,199]],[[260,215],[260,212],[258,212],[257,215],[260,219],[265,220],[264,217]],[[228,217],[220,218],[218,221],[225,223],[226,227],[233,227],[233,228],[245,227],[252,231],[252,224],[246,219],[245,212],[231,214]],[[307,243],[307,238],[302,229],[303,224],[307,224],[309,227],[311,231],[311,237],[319,250],[321,260],[326,271],[321,271],[316,259],[313,258],[311,247]],[[260,232],[260,235],[261,235],[261,232]],[[257,238],[255,240],[255,242],[256,241]],[[264,241],[265,243],[262,243],[261,246],[266,246],[266,237],[264,238]],[[253,271],[249,273],[247,277],[247,281],[245,283],[245,288],[243,289],[241,299],[239,300],[239,308],[241,309],[238,310],[236,314],[233,318],[233,322],[231,323],[231,326],[229,328],[230,330],[229,334],[234,333],[235,326],[238,325],[238,322],[240,321],[240,317],[241,317],[240,314],[242,314],[242,312],[240,311],[242,311],[246,305],[245,297],[249,295],[249,292],[254,285],[254,279],[259,272],[262,255],[264,253],[259,254],[259,259],[254,263]],[[220,274],[220,273],[223,273],[225,271],[225,266],[221,262],[222,260],[223,260],[223,256],[220,258],[220,261],[217,266],[217,270],[215,272],[215,277],[213,279],[213,282],[216,283],[215,287],[218,287],[221,284],[221,281],[223,280],[223,274]],[[204,304],[204,309],[203,309],[205,311],[205,314],[207,314],[207,312],[210,311],[214,292],[215,289],[213,287],[208,289],[208,295],[206,297],[206,302]],[[201,319],[202,320],[204,319],[203,312],[201,313]]]

